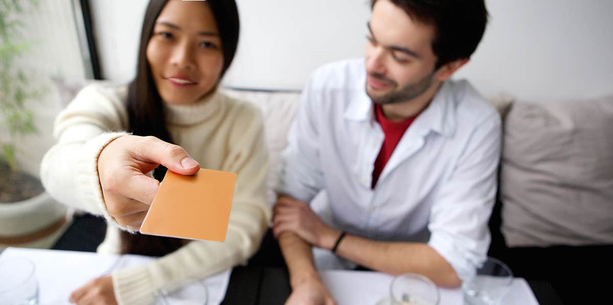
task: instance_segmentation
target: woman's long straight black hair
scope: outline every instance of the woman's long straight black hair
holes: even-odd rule
[[[153,34],[153,28],[159,14],[166,6],[168,0],[150,0],[143,28],[140,34],[139,58],[137,62],[136,77],[128,88],[128,116],[130,129],[134,135],[152,135],[163,141],[173,143],[166,127],[162,97],[159,95],[151,74],[151,67],[147,61],[147,45]],[[238,9],[234,0],[207,0],[202,1],[213,12],[223,51],[224,65],[219,78],[232,63],[238,45]],[[166,168],[159,166],[154,176],[162,181]],[[180,220],[179,220],[180,221]],[[142,254],[150,256],[163,256],[183,246],[183,241],[177,238],[149,236],[121,232],[121,247],[123,254]]]

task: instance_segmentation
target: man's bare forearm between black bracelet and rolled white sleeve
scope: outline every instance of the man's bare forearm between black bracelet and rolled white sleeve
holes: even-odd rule
[[[338,245],[336,254],[384,273],[419,273],[446,287],[461,284],[452,266],[424,243],[373,241],[346,235]]]

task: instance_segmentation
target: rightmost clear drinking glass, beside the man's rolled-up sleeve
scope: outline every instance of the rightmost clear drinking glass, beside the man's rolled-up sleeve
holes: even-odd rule
[[[466,305],[498,305],[511,289],[513,273],[497,258],[488,257],[477,273],[462,282]]]

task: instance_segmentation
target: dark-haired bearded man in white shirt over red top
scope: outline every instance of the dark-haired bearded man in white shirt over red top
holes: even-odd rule
[[[314,72],[283,153],[273,233],[290,304],[333,304],[311,247],[457,287],[489,246],[500,116],[448,80],[481,40],[484,1],[371,3],[365,59]]]

